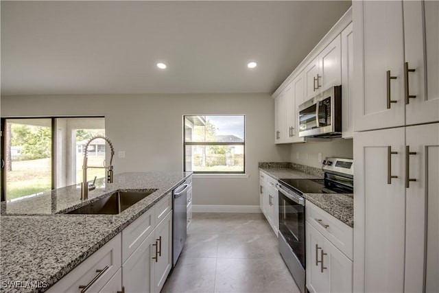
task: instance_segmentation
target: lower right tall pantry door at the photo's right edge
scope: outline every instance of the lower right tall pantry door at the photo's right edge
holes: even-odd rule
[[[424,278],[439,292],[439,124],[407,127],[406,145],[405,292],[423,292]]]

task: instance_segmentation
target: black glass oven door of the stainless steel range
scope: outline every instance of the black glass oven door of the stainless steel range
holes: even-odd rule
[[[305,203],[278,188],[279,232],[305,269]]]

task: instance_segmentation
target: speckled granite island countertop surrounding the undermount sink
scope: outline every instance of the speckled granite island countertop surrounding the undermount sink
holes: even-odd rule
[[[190,175],[123,173],[115,175],[114,183],[97,182],[98,188],[89,191],[88,200],[80,200],[80,188],[73,185],[25,200],[2,202],[0,292],[44,292]],[[127,189],[157,190],[117,215],[62,214]],[[12,282],[21,283],[10,285]],[[32,284],[40,288],[32,288]]]

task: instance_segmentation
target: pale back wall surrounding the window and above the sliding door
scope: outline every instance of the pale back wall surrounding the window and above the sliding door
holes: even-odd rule
[[[1,117],[105,117],[115,145],[115,172],[182,170],[182,115],[246,115],[248,178],[194,178],[193,204],[259,205],[259,161],[289,161],[274,145],[274,100],[268,94],[51,95],[1,97]],[[126,152],[124,159],[117,152]]]

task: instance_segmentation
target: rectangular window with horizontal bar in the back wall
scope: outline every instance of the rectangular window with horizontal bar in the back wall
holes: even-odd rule
[[[185,171],[245,172],[244,115],[185,115],[183,120]]]

